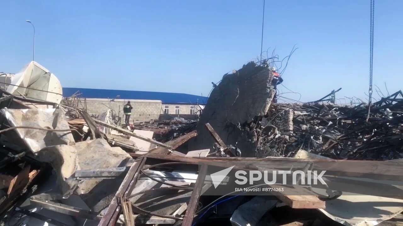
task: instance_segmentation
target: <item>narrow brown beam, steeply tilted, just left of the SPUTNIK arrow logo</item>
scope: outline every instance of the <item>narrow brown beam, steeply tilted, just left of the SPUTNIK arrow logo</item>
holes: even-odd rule
[[[195,187],[193,189],[192,196],[190,197],[185,217],[183,218],[182,226],[192,226],[197,203],[199,202],[199,197],[202,193],[204,179],[206,178],[206,173],[207,173],[207,165],[203,164],[200,168],[199,175],[197,176]]]

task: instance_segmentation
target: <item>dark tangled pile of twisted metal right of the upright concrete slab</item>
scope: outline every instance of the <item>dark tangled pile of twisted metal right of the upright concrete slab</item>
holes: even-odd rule
[[[303,149],[334,159],[402,158],[403,99],[386,97],[370,108],[368,123],[367,116],[364,105],[274,104],[256,132],[260,146],[280,156]]]

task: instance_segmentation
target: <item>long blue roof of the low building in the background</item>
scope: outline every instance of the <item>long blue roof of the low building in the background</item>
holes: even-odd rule
[[[207,103],[207,98],[197,95],[174,92],[148,92],[148,91],[130,91],[130,90],[108,90],[108,89],[91,89],[91,88],[63,88],[63,97],[70,97],[75,92],[82,93],[82,98],[109,98],[114,99],[139,99],[139,100],[161,100],[162,103],[185,103],[199,104]]]

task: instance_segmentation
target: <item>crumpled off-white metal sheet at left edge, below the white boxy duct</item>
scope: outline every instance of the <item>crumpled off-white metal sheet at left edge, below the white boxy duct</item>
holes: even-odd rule
[[[66,116],[61,109],[1,109],[1,112],[11,126],[69,129]],[[34,154],[47,146],[75,144],[71,131],[38,129],[15,129],[15,131]]]

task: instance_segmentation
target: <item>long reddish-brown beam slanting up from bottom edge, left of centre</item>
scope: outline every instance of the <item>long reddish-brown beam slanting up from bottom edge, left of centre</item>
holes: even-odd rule
[[[144,166],[144,163],[145,158],[141,157],[136,159],[136,161],[131,165],[129,171],[126,174],[125,179],[123,179],[122,183],[120,184],[118,191],[116,192],[115,196],[110,202],[110,205],[106,209],[106,212],[102,217],[102,219],[100,220],[98,226],[115,225],[120,213],[120,206],[118,205],[118,199],[120,199],[120,197],[122,197],[127,192],[130,183],[137,178],[140,169],[143,168]]]

